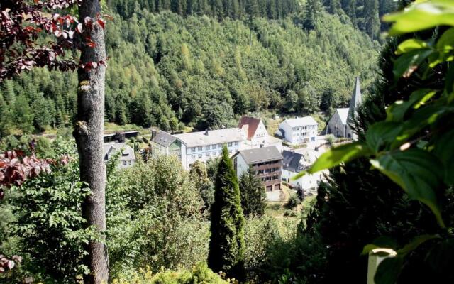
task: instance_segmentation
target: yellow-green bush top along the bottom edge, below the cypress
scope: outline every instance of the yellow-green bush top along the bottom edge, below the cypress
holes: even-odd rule
[[[230,281],[223,280],[220,275],[211,271],[206,263],[197,263],[192,271],[160,271],[153,274],[150,268],[139,269],[133,275],[121,276],[114,279],[114,284],[226,284]]]

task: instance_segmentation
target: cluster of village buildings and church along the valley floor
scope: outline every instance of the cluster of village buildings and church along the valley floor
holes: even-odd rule
[[[242,116],[234,128],[189,133],[152,129],[146,148],[134,149],[126,143],[128,138],[137,137],[138,131],[109,134],[104,136],[104,160],[121,151],[118,167],[128,168],[135,163],[135,153],[175,156],[184,170],[190,170],[196,161],[207,163],[221,157],[226,146],[238,178],[251,168],[262,181],[268,201],[279,200],[282,185],[303,195],[315,195],[326,171],[293,177],[308,169],[333,143],[357,139],[350,123],[361,99],[360,78],[356,77],[349,107],[335,109],[321,131],[311,116],[284,119],[274,133],[267,130],[262,119]]]

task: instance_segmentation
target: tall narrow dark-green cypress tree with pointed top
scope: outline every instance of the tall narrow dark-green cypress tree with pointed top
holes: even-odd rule
[[[224,146],[211,206],[208,265],[213,271],[223,271],[239,280],[244,278],[244,223],[238,179]]]

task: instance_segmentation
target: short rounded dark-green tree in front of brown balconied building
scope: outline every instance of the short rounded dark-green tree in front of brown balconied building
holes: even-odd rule
[[[261,217],[265,214],[266,194],[262,181],[257,178],[253,170],[248,171],[240,177],[241,207],[245,217]]]

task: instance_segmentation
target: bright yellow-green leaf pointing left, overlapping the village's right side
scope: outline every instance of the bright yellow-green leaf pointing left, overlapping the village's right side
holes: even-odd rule
[[[333,168],[341,163],[346,163],[355,158],[370,155],[371,153],[372,151],[370,151],[370,148],[365,145],[365,143],[360,142],[348,143],[342,146],[331,148],[330,150],[323,153],[315,161],[315,163],[311,165],[311,168],[309,168],[309,170],[299,173],[292,179],[297,180],[306,173],[316,173],[320,170]]]

